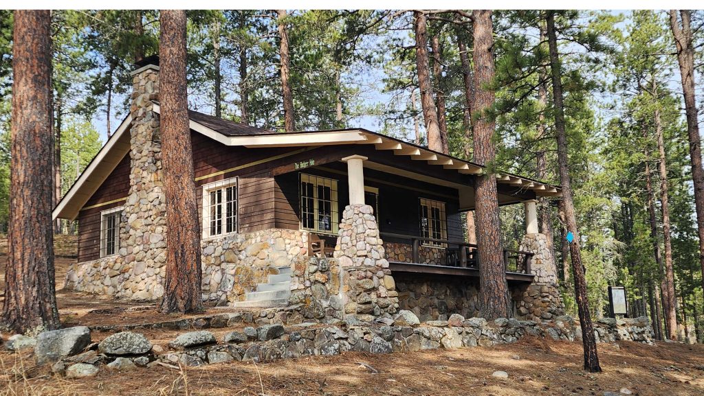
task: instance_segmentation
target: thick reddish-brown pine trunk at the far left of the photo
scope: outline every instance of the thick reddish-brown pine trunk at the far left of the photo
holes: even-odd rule
[[[61,326],[54,285],[51,13],[15,11],[10,219],[2,321],[25,333]]]

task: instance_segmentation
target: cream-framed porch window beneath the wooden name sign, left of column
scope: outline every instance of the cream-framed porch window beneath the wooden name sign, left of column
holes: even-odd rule
[[[301,229],[337,234],[337,180],[301,173]]]

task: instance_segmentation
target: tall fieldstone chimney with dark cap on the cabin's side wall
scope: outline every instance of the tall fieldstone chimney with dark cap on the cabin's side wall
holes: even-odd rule
[[[130,193],[120,226],[125,286],[120,297],[151,299],[164,293],[166,212],[161,172],[161,134],[154,101],[159,97],[157,56],[137,64],[132,75]]]

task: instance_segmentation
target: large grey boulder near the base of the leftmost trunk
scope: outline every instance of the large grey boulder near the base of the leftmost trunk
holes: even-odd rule
[[[44,331],[37,336],[34,355],[38,364],[56,362],[62,357],[76,355],[90,344],[90,329],[86,326]]]

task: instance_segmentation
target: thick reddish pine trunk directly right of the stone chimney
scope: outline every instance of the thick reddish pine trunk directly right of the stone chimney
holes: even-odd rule
[[[161,144],[168,229],[161,312],[197,312],[201,300],[201,226],[186,92],[186,12],[162,10]]]

